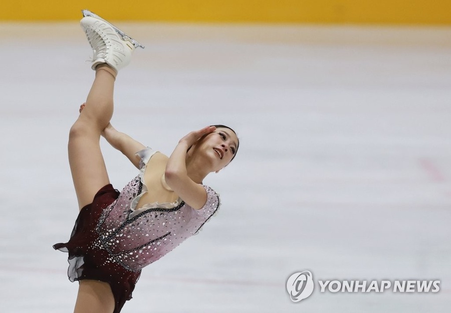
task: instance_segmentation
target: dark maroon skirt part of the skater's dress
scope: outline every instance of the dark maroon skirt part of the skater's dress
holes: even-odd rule
[[[53,246],[55,250],[69,253],[70,281],[94,279],[110,284],[115,300],[114,313],[119,313],[125,301],[132,298],[132,291],[141,274],[113,262],[107,251],[94,244],[99,237],[96,227],[102,212],[118,196],[119,192],[111,184],[100,189],[93,202],[81,209],[69,242]]]

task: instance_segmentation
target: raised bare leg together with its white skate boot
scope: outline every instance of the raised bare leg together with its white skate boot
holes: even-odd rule
[[[85,108],[69,134],[69,163],[81,209],[110,183],[100,151],[100,134],[113,115],[117,72],[130,63],[135,46],[128,36],[122,37],[117,28],[98,16],[85,16],[80,25],[93,49],[92,69],[96,71]]]

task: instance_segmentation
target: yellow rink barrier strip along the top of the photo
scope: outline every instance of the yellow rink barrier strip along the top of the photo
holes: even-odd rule
[[[0,21],[451,25],[451,0],[4,0]]]

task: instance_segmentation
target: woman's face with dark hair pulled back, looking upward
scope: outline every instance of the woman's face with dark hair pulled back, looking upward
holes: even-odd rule
[[[212,159],[214,171],[228,165],[235,156],[238,147],[237,134],[229,128],[218,127],[202,140],[202,150]]]

